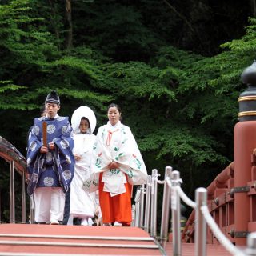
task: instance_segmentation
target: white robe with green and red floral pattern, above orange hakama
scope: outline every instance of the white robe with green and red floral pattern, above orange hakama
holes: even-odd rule
[[[94,165],[92,174],[84,182],[83,188],[88,191],[98,189],[99,173],[102,174],[104,191],[111,196],[126,192],[125,183],[141,185],[146,183],[147,172],[142,155],[138,150],[137,142],[130,131],[130,127],[120,121],[112,126],[107,122],[98,129],[96,146],[94,149]],[[118,162],[118,169],[109,169],[111,162]],[[126,175],[128,181],[126,181]]]

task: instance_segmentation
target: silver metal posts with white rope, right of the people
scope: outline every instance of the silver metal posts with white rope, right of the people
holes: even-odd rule
[[[230,254],[235,256],[245,256],[251,255],[251,251],[256,251],[256,232],[249,234],[247,238],[247,248],[241,250],[238,246],[234,246],[230,239],[226,238],[225,234],[219,228],[214,218],[211,216],[210,211],[207,206],[207,189],[198,188],[195,192],[196,202],[192,201],[187,197],[186,193],[181,188],[182,179],[179,177],[179,172],[177,170],[172,170],[170,166],[166,166],[166,173],[164,180],[158,180],[158,170],[152,170],[152,176],[148,176],[148,182],[146,183],[146,189],[138,192],[138,197],[136,198],[135,211],[139,210],[138,217],[140,220],[137,222],[138,226],[141,226],[149,232],[148,222],[149,222],[149,209],[150,214],[150,235],[154,238],[156,237],[156,215],[154,214],[157,210],[157,197],[158,194],[158,184],[164,185],[163,199],[162,199],[162,220],[161,220],[161,234],[160,243],[163,249],[166,249],[166,241],[168,235],[168,225],[170,222],[169,214],[170,209],[172,211],[172,230],[173,230],[173,255],[181,255],[181,227],[180,227],[180,199],[186,205],[190,206],[195,210],[195,255],[204,256],[206,255],[206,224],[210,227],[210,230],[214,236],[218,239],[218,242],[230,252]],[[146,190],[146,192],[144,191]],[[146,206],[145,206],[145,220],[144,226],[142,225],[142,206],[144,203],[144,195],[146,194]],[[150,202],[151,201],[151,202]],[[148,209],[147,209],[148,208]],[[152,220],[152,218],[154,218]],[[139,224],[140,223],[140,224]],[[145,225],[146,224],[146,225]]]

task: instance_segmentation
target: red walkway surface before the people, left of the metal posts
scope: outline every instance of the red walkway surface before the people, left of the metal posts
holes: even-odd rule
[[[48,253],[48,254],[84,254],[84,255],[162,255],[161,251],[149,248],[122,248],[122,247],[98,247],[98,246],[68,246],[67,243],[90,243],[90,244],[118,244],[155,246],[151,241],[122,241],[126,238],[150,238],[144,230],[137,227],[125,226],[62,226],[62,225],[33,225],[33,224],[1,224],[0,234],[32,234],[32,235],[73,235],[73,236],[101,236],[114,237],[114,240],[103,239],[68,239],[68,238],[10,238],[0,237],[3,241],[18,242],[64,242],[63,246],[38,246],[38,245],[2,245],[0,253]]]

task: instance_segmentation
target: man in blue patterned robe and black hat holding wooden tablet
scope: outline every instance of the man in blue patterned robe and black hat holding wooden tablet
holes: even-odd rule
[[[46,117],[34,119],[28,138],[27,191],[34,194],[34,221],[59,224],[74,176],[74,132],[69,118],[58,115],[60,100],[55,90],[47,95],[45,106]]]

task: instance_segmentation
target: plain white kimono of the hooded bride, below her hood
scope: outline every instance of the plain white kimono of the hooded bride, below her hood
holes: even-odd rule
[[[94,218],[96,210],[95,194],[82,189],[83,182],[90,177],[90,161],[96,136],[94,134],[74,134],[74,154],[81,160],[74,165],[74,178],[70,188],[70,215],[77,218]]]

